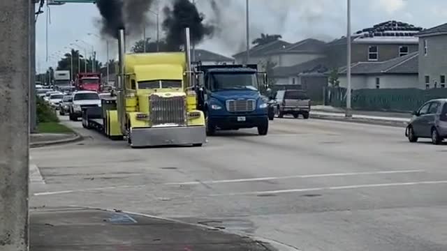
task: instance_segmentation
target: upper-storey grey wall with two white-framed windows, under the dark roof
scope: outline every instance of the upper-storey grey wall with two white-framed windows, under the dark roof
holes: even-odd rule
[[[387,60],[396,58],[397,56],[399,56],[399,48],[401,46],[408,46],[409,53],[418,51],[417,44],[353,43],[352,49],[351,49],[352,63],[367,62],[369,46],[377,46],[377,49],[379,51],[379,59],[377,61],[387,61]],[[328,58],[330,61],[330,67],[331,68],[339,68],[342,66],[346,66],[346,63],[347,63],[346,53],[347,53],[346,44],[344,44],[344,45],[330,45],[328,47],[328,51],[327,51]]]

